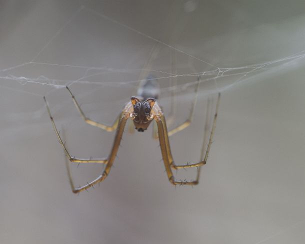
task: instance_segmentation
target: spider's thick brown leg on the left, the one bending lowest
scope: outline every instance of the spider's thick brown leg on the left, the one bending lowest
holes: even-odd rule
[[[95,178],[91,182],[87,182],[87,184],[85,184],[83,186],[74,187],[72,176],[71,176],[71,173],[70,173],[70,167],[69,167],[68,162],[66,160],[66,168],[67,168],[67,172],[68,172],[69,182],[70,182],[70,185],[71,185],[71,189],[74,193],[79,193],[80,191],[86,190],[89,187],[93,187],[94,184],[103,181],[108,176],[108,174],[110,172],[110,169],[111,169],[111,166],[113,165],[114,159],[116,157],[116,153],[117,153],[117,150],[118,150],[121,138],[122,138],[122,134],[124,132],[124,127],[125,127],[125,124],[126,124],[126,121],[127,121],[128,118],[129,118],[129,113],[123,111],[122,115],[120,117],[119,123],[118,123],[116,133],[115,133],[112,149],[110,151],[108,159],[106,160],[105,168],[104,168],[102,174],[99,175],[97,178]]]

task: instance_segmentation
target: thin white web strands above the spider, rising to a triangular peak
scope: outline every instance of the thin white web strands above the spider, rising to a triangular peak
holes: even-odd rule
[[[106,66],[87,66],[87,65],[73,65],[73,64],[59,64],[59,63],[51,63],[51,62],[39,62],[35,61],[35,59],[45,50],[47,47],[56,39],[56,37],[60,36],[60,34],[63,32],[65,28],[69,26],[69,24],[75,19],[75,17],[83,11],[83,9],[88,10],[92,14],[96,14],[102,19],[105,19],[106,21],[109,21],[111,23],[114,23],[115,25],[121,26],[127,30],[130,30],[133,33],[139,34],[144,36],[145,38],[154,41],[155,43],[158,43],[162,45],[163,47],[169,48],[171,51],[174,51],[176,53],[181,53],[186,55],[188,58],[192,60],[197,60],[203,64],[207,64],[210,67],[213,67],[212,70],[201,70],[196,72],[185,72],[180,74],[174,74],[170,71],[165,70],[158,70],[155,68],[115,68],[115,67],[106,67]],[[86,8],[84,6],[80,6],[77,8],[77,10],[65,21],[65,23],[54,33],[54,35],[43,45],[43,47],[37,52],[37,54],[31,59],[31,61],[24,62],[21,64],[17,64],[11,67],[6,67],[4,69],[0,70],[0,79],[2,80],[10,80],[10,81],[16,81],[21,85],[26,84],[36,84],[36,85],[46,85],[54,88],[54,90],[58,88],[63,88],[65,86],[71,86],[74,83],[83,84],[83,85],[101,85],[101,86],[107,86],[107,87],[118,87],[118,86],[133,86],[137,87],[139,82],[143,81],[143,79],[126,79],[124,81],[120,80],[105,80],[105,79],[95,79],[94,77],[98,77],[99,75],[105,75],[105,74],[117,74],[117,73],[123,73],[123,74],[132,74],[134,72],[139,71],[145,71],[146,73],[155,73],[156,78],[163,82],[163,80],[168,80],[171,78],[183,78],[183,77],[189,77],[190,79],[187,80],[187,82],[183,84],[175,84],[171,85],[170,87],[165,87],[161,89],[161,92],[167,92],[167,91],[182,91],[187,89],[187,87],[196,84],[197,77],[200,76],[201,81],[200,82],[208,82],[208,81],[214,81],[216,84],[215,90],[209,90],[208,92],[219,92],[224,91],[240,82],[244,82],[249,77],[252,77],[253,75],[256,75],[261,72],[270,71],[273,70],[276,72],[277,69],[280,69],[283,65],[288,65],[291,62],[297,61],[299,59],[302,59],[305,56],[305,50],[302,50],[300,52],[275,59],[270,60],[262,63],[256,63],[256,64],[248,64],[244,66],[238,66],[238,67],[218,67],[214,64],[211,64],[210,62],[207,62],[205,60],[202,60],[196,56],[193,56],[189,53],[186,53],[185,51],[178,49],[174,46],[171,46],[161,40],[158,40],[148,34],[145,34],[137,29],[134,29],[131,26],[128,26],[124,23],[121,23],[115,19],[112,19],[104,14],[101,14],[93,9]],[[40,75],[36,77],[29,77],[25,75],[17,75],[17,71],[20,68],[28,68],[33,69],[37,66],[43,66],[43,67],[52,67],[52,68],[66,68],[67,71],[71,71],[72,69],[81,70],[83,75],[79,76],[77,79],[60,79],[60,78],[50,78],[47,77],[47,75],[41,73]],[[91,73],[92,72],[92,73]],[[15,74],[16,73],[16,74]],[[191,78],[193,77],[193,78]],[[219,84],[217,82],[218,80],[223,80],[225,78],[230,78],[232,81],[230,83],[226,83],[225,85]],[[52,92],[53,90],[49,91],[48,93]],[[35,94],[32,92],[32,94]],[[36,95],[42,95],[42,94],[36,94]]]

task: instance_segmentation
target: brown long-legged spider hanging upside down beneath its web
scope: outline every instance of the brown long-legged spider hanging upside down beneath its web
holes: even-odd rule
[[[108,157],[102,158],[102,159],[92,159],[92,158],[82,159],[82,158],[72,157],[70,155],[65,144],[62,141],[61,136],[59,135],[59,131],[56,128],[55,122],[54,122],[53,117],[50,112],[50,108],[49,108],[46,98],[44,96],[43,99],[44,99],[45,106],[46,106],[48,115],[50,117],[52,126],[57,135],[59,143],[61,144],[69,161],[78,162],[78,163],[103,163],[103,164],[105,164],[105,167],[104,167],[101,175],[99,175],[93,181],[87,182],[87,184],[85,184],[83,186],[79,186],[79,187],[74,187],[72,178],[71,178],[71,174],[69,171],[69,167],[67,164],[68,176],[69,176],[69,181],[70,181],[72,191],[74,193],[78,193],[82,190],[87,190],[87,188],[89,188],[91,186],[93,187],[94,184],[99,183],[100,181],[103,181],[108,176],[111,166],[113,165],[114,159],[116,157],[116,153],[117,153],[117,150],[118,150],[118,147],[120,144],[120,140],[121,140],[122,134],[124,132],[124,126],[125,126],[128,118],[130,118],[133,121],[135,129],[137,131],[141,131],[141,132],[143,132],[147,129],[147,127],[149,126],[149,124],[151,123],[152,120],[155,120],[157,126],[153,130],[155,133],[154,137],[159,139],[162,159],[163,159],[164,166],[165,166],[165,171],[166,171],[168,180],[171,184],[173,184],[173,185],[177,185],[177,184],[178,185],[196,185],[196,184],[198,184],[200,166],[202,166],[206,163],[208,152],[209,152],[209,149],[210,149],[210,146],[212,143],[213,134],[215,131],[220,93],[218,93],[216,109],[215,109],[212,127],[211,127],[211,131],[210,131],[210,135],[209,135],[204,157],[201,152],[201,159],[203,157],[203,160],[196,162],[196,163],[186,163],[183,165],[176,165],[174,163],[172,155],[171,155],[168,136],[170,136],[178,131],[181,131],[184,128],[186,128],[187,126],[189,126],[191,119],[192,119],[192,114],[193,114],[193,109],[194,109],[194,105],[195,105],[195,101],[196,101],[199,81],[200,81],[200,77],[198,77],[198,82],[195,87],[195,96],[192,101],[192,106],[191,106],[191,110],[190,110],[190,114],[189,114],[188,118],[183,123],[181,123],[180,125],[178,125],[177,127],[173,128],[169,131],[167,131],[166,121],[165,121],[165,117],[164,117],[164,114],[162,111],[162,107],[156,101],[156,98],[158,97],[158,87],[156,86],[156,80],[153,77],[146,78],[146,81],[144,82],[144,84],[138,89],[138,97],[135,97],[135,96],[130,97],[130,101],[125,104],[125,106],[119,113],[117,119],[114,121],[114,123],[111,126],[105,125],[103,123],[100,123],[100,122],[97,122],[97,121],[94,121],[94,120],[91,120],[90,118],[88,118],[84,114],[82,109],[80,108],[80,106],[79,106],[78,102],[76,101],[74,95],[72,94],[71,90],[68,88],[68,86],[66,86],[66,89],[68,90],[69,94],[72,97],[74,105],[76,106],[81,117],[83,118],[83,120],[86,123],[99,127],[101,129],[104,129],[106,131],[116,130],[112,149],[111,149]],[[172,169],[188,168],[188,167],[197,167],[198,168],[197,176],[196,176],[195,180],[182,181],[182,180],[176,180],[174,178],[174,176],[172,174]]]

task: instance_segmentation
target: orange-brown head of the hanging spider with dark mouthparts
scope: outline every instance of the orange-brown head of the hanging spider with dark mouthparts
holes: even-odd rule
[[[130,118],[133,120],[135,129],[137,129],[137,131],[144,131],[147,129],[153,118],[151,108],[155,103],[155,99],[148,98],[141,101],[135,96],[131,96],[130,99],[133,105],[133,112],[130,113]]]

